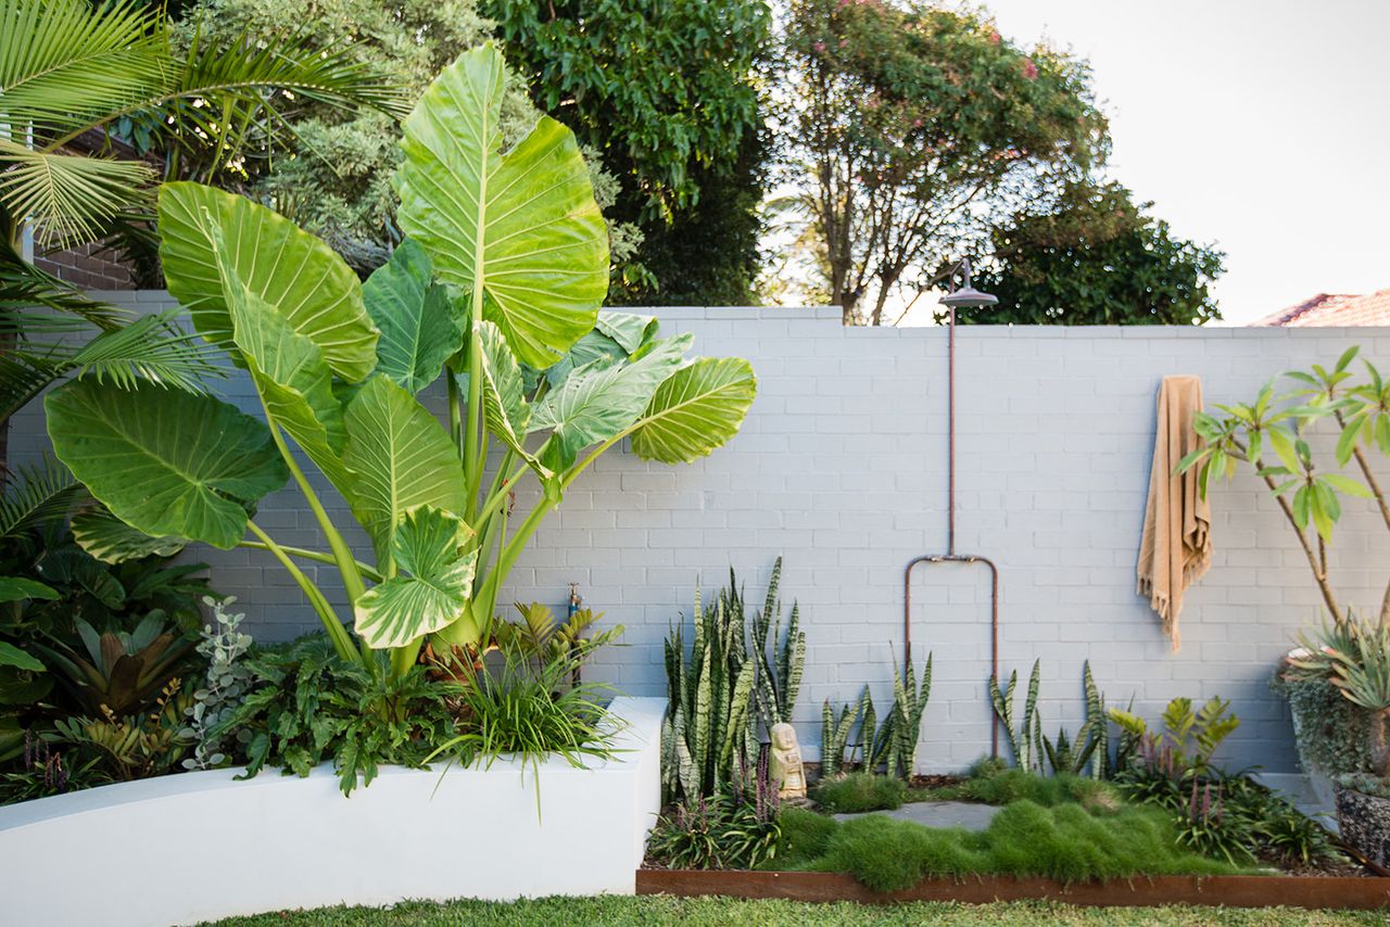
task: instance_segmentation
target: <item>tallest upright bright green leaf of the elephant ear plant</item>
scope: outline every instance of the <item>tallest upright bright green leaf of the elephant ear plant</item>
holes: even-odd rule
[[[502,54],[464,53],[406,120],[400,227],[517,357],[549,367],[594,328],[607,293],[607,229],[574,133],[542,117],[502,154]]]

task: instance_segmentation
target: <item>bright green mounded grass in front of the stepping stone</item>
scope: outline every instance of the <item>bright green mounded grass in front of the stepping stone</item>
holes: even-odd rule
[[[1183,851],[1172,823],[1156,809],[1093,813],[1074,802],[1045,807],[1015,801],[980,834],[881,814],[838,823],[788,809],[778,869],[848,873],[880,892],[910,888],[931,876],[1038,876],[1073,883],[1244,871]]]

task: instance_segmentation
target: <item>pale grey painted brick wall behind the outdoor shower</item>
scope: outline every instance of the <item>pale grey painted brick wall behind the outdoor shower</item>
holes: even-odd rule
[[[164,297],[124,299],[153,309]],[[845,329],[833,309],[657,313],[669,331],[692,331],[696,350],[752,360],[759,396],[748,423],[688,467],[602,459],[537,535],[503,600],[559,609],[578,582],[589,606],[627,628],[627,646],[600,655],[594,675],[659,695],[662,638],[688,617],[696,582],[717,586],[733,566],[760,600],[773,559],[785,555],[784,593],[799,599],[809,639],[796,719],[815,753],[823,699],[869,684],[884,710],[902,656],[903,564],[947,543],[945,332]],[[1293,770],[1287,712],[1268,682],[1297,628],[1318,618],[1319,599],[1262,484],[1240,477],[1213,496],[1215,564],[1187,599],[1182,652],[1134,593],[1155,389],[1166,374],[1198,374],[1208,403],[1243,400],[1270,375],[1351,343],[1390,364],[1384,328],[959,331],[956,548],[999,564],[1002,667],[1026,677],[1042,660],[1049,735],[1074,730],[1088,659],[1112,703],[1133,699],[1150,716],[1176,695],[1230,698],[1243,725],[1223,753]],[[245,381],[228,393],[252,407]],[[43,443],[31,410],[15,423],[15,454]],[[341,503],[335,511],[346,520]],[[267,499],[257,520],[285,543],[318,543],[291,492]],[[268,556],[197,556],[257,634],[314,627]],[[1346,599],[1379,603],[1390,542],[1369,503],[1348,504],[1333,561]],[[916,655],[930,649],[935,660],[920,763],[960,769],[990,739],[986,570],[919,567],[912,623]]]

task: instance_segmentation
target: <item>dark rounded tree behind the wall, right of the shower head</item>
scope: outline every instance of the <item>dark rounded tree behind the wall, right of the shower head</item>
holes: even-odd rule
[[[1173,236],[1119,183],[1073,183],[1056,210],[1020,213],[994,231],[994,261],[976,285],[998,306],[963,322],[1201,325],[1220,318],[1208,285],[1222,253]]]

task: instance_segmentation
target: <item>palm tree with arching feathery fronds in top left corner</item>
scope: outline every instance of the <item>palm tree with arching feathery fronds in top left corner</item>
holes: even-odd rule
[[[221,44],[195,35],[179,49],[168,25],[138,0],[0,0],[0,464],[10,416],[63,377],[197,391],[215,370],[167,320],[132,320],[24,260],[26,229],[54,249],[149,240],[161,174],[235,179],[275,150],[304,101],[403,111],[389,79],[293,33]],[[113,135],[132,128],[163,171],[111,156]]]

